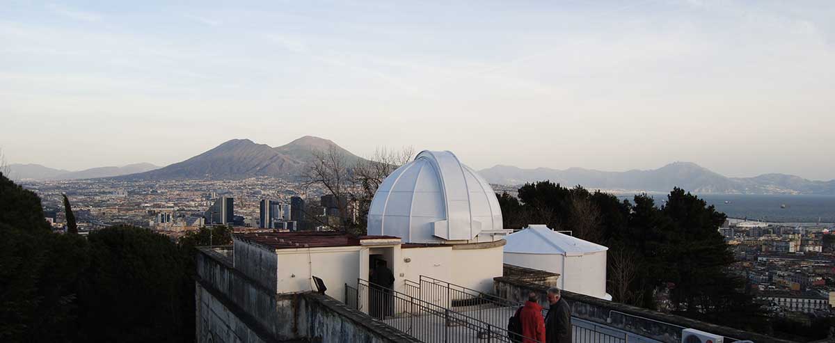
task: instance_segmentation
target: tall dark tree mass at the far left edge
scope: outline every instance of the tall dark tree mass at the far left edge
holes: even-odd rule
[[[36,194],[0,174],[0,341],[72,340],[86,241],[56,235]]]

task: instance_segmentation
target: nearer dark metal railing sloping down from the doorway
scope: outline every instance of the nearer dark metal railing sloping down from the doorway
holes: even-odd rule
[[[407,283],[406,292],[410,295],[360,279],[356,288],[345,285],[345,303],[424,342],[512,343],[524,338],[504,329],[509,316],[504,318],[504,325],[493,325],[448,306],[421,300],[416,296],[422,293],[417,286]]]

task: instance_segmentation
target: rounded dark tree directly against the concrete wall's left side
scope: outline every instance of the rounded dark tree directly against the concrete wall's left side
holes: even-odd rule
[[[78,299],[83,340],[193,339],[183,313],[194,310],[184,308],[194,284],[177,245],[132,226],[96,230],[88,239],[91,260]]]

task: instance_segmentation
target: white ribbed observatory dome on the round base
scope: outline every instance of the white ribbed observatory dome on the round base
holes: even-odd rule
[[[490,184],[453,153],[424,150],[380,184],[367,229],[406,243],[470,241],[502,230],[502,210]]]

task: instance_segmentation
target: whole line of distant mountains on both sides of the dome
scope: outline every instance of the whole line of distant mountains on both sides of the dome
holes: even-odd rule
[[[258,176],[296,179],[314,161],[316,151],[335,149],[354,164],[360,157],[328,139],[305,136],[279,147],[256,144],[250,139],[231,139],[205,153],[158,168],[153,164],[130,164],[78,172],[49,169],[38,164],[11,164],[18,179],[123,180],[246,179]],[[521,169],[496,165],[478,172],[491,184],[519,185],[551,180],[587,189],[611,191],[669,192],[681,187],[695,193],[712,194],[835,194],[835,180],[815,181],[787,174],[762,174],[752,178],[729,178],[698,164],[676,162],[659,169],[610,172],[594,169]]]

